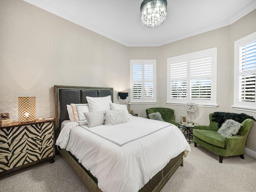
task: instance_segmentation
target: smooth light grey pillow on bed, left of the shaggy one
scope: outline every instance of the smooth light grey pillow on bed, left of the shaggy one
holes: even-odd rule
[[[104,113],[105,111],[85,112],[84,116],[87,120],[88,127],[92,128],[104,124]]]

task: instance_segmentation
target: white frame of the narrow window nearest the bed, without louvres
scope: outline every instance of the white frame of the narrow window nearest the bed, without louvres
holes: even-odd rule
[[[142,98],[133,98],[133,65],[134,64],[142,64]],[[152,64],[153,65],[153,98],[148,99],[145,98],[144,96],[144,66],[147,64]],[[130,102],[132,104],[156,104],[156,60],[130,60]]]

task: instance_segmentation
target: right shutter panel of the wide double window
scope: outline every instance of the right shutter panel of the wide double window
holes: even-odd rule
[[[212,55],[190,58],[190,99],[211,99]]]

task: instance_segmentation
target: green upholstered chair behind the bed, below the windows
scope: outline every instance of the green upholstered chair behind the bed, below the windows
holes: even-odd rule
[[[162,116],[162,119],[165,122],[168,122],[168,123],[171,123],[171,124],[174,124],[174,125],[178,126],[178,123],[173,120],[173,116],[174,116],[174,110],[173,109],[162,108],[162,107],[154,107],[154,108],[146,109],[147,117],[148,117],[148,114],[155,113],[155,112],[159,112]]]

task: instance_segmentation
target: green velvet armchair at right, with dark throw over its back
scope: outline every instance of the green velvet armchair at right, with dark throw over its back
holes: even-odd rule
[[[218,123],[212,121],[212,113],[209,114],[209,119],[209,126],[194,126],[194,146],[196,147],[199,144],[210,152],[219,155],[220,163],[222,163],[223,157],[227,156],[240,155],[244,159],[244,145],[254,120],[244,120],[236,136],[223,137],[217,132],[219,129]]]

